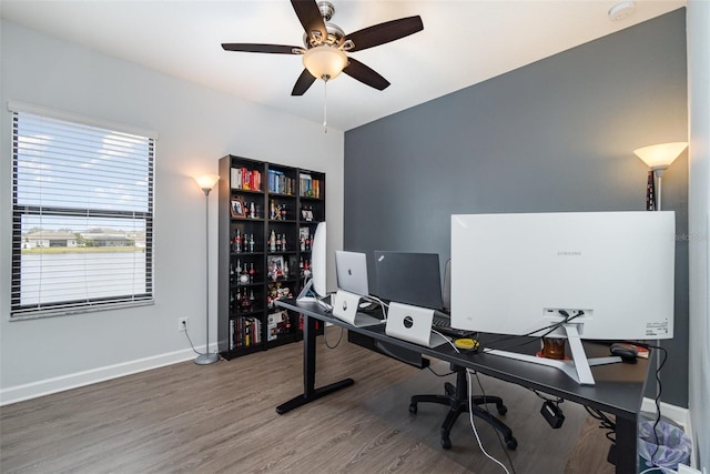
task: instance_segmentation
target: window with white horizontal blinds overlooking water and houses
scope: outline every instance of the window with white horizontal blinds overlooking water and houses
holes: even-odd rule
[[[10,110],[10,319],[152,303],[154,138]]]

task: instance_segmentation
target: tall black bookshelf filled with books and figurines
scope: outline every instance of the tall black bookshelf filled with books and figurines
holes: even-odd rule
[[[225,359],[303,339],[303,315],[275,306],[306,282],[325,220],[325,173],[220,159],[217,341]]]

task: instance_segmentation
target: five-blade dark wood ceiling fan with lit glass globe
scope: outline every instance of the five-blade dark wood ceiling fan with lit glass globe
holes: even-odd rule
[[[305,33],[303,47],[261,43],[222,43],[225,51],[303,54],[305,69],[296,80],[292,95],[303,95],[316,79],[328,81],[341,72],[384,90],[389,82],[369,67],[346,54],[395,41],[424,29],[419,16],[375,24],[351,34],[331,23],[335,12],[329,1],[291,0]]]

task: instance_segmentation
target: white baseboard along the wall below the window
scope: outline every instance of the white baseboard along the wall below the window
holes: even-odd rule
[[[204,347],[195,349],[197,351],[204,350]],[[212,347],[212,351],[216,351],[216,346]],[[139,372],[150,371],[152,369],[190,361],[195,357],[196,354],[192,349],[186,349],[151,357],[138,359],[135,361],[123,362],[120,364],[108,365],[104,367],[92,369],[90,371],[77,372],[59,377],[45,379],[23,385],[11,386],[9,389],[0,390],[0,406],[63,392],[65,390],[78,389],[80,386],[87,386]]]

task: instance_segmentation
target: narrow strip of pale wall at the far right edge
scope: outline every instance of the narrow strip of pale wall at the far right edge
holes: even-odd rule
[[[710,2],[688,2],[689,400],[696,456],[710,473]]]

